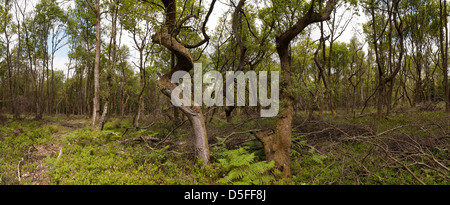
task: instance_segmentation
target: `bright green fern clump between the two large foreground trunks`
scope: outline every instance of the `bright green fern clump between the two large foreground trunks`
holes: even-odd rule
[[[219,179],[222,184],[233,185],[260,185],[270,184],[275,177],[267,174],[275,166],[275,162],[255,162],[254,153],[248,153],[244,148],[228,150],[224,158],[218,159],[226,171],[226,176]]]

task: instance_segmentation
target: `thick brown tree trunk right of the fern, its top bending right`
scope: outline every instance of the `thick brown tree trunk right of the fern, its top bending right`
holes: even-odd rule
[[[276,7],[277,2],[273,2]],[[318,2],[321,3],[321,2]],[[313,23],[330,19],[330,14],[334,9],[336,0],[328,0],[325,8],[315,11],[316,1],[311,1],[307,11],[298,17],[295,24],[288,26],[276,36],[276,50],[281,64],[280,81],[280,113],[277,117],[275,133],[257,134],[260,141],[264,144],[264,150],[267,161],[275,161],[275,165],[280,169],[285,178],[290,178],[290,147],[291,130],[293,116],[293,96],[291,92],[291,61],[289,54],[289,45],[291,41],[302,32],[307,26]],[[280,8],[275,8],[280,9]]]

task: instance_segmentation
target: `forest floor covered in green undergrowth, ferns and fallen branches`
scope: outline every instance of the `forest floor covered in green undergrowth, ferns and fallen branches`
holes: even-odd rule
[[[450,184],[450,116],[439,110],[379,121],[346,111],[309,121],[298,114],[288,181],[251,134],[273,129],[275,118],[242,114],[227,123],[215,115],[207,123],[211,163],[202,166],[186,121],[127,129],[128,119],[112,118],[99,131],[84,116],[7,117],[0,184]]]

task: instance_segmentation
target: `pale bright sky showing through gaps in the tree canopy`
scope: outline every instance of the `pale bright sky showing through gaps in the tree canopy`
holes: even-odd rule
[[[36,2],[38,2],[38,0],[31,0],[31,5],[35,5]],[[69,2],[69,4],[73,5],[73,2],[71,1],[64,1],[64,2]],[[67,4],[67,3],[66,3]],[[27,6],[27,8],[32,8],[34,6]],[[66,7],[66,6],[64,6]],[[215,29],[216,25],[218,24],[219,18],[225,13],[225,11],[228,10],[228,5],[225,5],[222,3],[222,1],[217,1],[216,5],[214,7],[214,10],[210,16],[210,19],[207,23],[207,27],[209,29],[209,32],[211,33],[212,30]],[[342,9],[341,9],[342,10]],[[341,11],[338,11],[338,13],[341,13]],[[348,12],[347,14],[349,14],[350,12]],[[343,34],[337,39],[337,41],[341,41],[341,42],[350,42],[351,37],[354,35],[354,33],[362,33],[360,30],[361,28],[361,23],[366,21],[366,17],[365,16],[353,16],[350,24],[348,25],[348,27],[346,28],[346,30],[343,32]],[[107,21],[106,20],[102,20],[102,25],[104,25]],[[358,30],[359,29],[359,30]],[[127,45],[130,48],[130,61],[136,60],[136,56],[137,56],[137,51],[134,50],[133,48],[133,40],[131,38],[131,34],[129,34],[128,32],[126,32],[125,30],[123,31],[123,35],[122,35],[122,44]],[[360,40],[362,40],[362,35],[357,35],[359,36]],[[317,40],[320,38],[320,31],[318,30],[317,26],[315,26],[315,29],[312,31],[311,33],[311,37],[313,40]],[[67,40],[67,39],[66,39]],[[66,41],[65,40],[65,41]],[[63,70],[63,71],[67,71],[67,65],[69,63],[69,59],[68,59],[68,54],[69,52],[69,45],[66,45],[64,47],[62,47],[60,50],[58,50],[55,54],[55,58],[54,58],[54,68],[56,70]],[[137,70],[137,69],[136,69]]]

